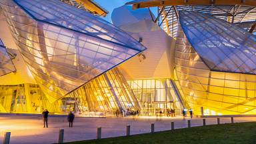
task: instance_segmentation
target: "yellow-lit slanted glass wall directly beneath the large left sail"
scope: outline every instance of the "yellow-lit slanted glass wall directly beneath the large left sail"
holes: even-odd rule
[[[73,109],[81,113],[125,111],[141,109],[119,69],[111,69],[79,87],[63,99],[62,111]],[[71,103],[73,102],[73,103]]]

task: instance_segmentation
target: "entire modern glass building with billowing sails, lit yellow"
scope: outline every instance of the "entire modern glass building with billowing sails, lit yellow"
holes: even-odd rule
[[[2,0],[0,112],[256,113],[256,2],[127,4]]]

